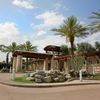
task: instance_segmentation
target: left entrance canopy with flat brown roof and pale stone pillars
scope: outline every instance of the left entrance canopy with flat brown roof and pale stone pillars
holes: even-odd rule
[[[32,52],[32,51],[15,51],[13,53],[13,68],[16,70],[16,72],[22,70],[22,58],[35,58],[40,59],[44,61],[44,67],[43,70],[47,67],[48,60],[51,60],[53,55],[51,54],[44,54],[44,53],[38,53],[38,52]]]

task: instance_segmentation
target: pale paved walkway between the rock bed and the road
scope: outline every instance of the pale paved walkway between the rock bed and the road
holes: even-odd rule
[[[16,74],[16,77],[22,76],[24,74]],[[9,86],[17,86],[17,87],[57,87],[57,86],[73,86],[73,85],[93,85],[100,84],[98,80],[83,80],[80,82],[79,80],[74,80],[70,82],[63,83],[18,83],[11,80],[11,73],[0,73],[0,84],[5,84]]]

